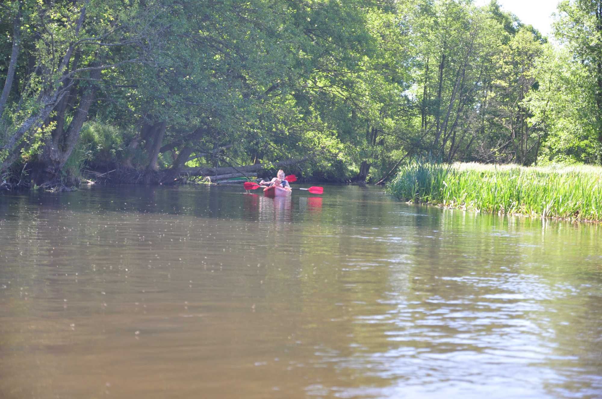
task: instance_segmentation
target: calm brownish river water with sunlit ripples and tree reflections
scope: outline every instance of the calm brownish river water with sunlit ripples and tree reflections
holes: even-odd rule
[[[600,227],[242,191],[0,196],[0,397],[602,397]]]

